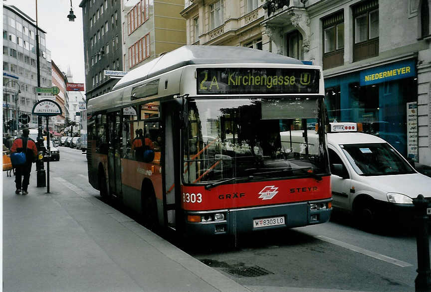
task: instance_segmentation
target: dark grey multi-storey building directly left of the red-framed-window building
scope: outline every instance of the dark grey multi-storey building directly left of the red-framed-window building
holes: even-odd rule
[[[123,71],[121,0],[82,0],[86,100],[118,82],[104,70]]]

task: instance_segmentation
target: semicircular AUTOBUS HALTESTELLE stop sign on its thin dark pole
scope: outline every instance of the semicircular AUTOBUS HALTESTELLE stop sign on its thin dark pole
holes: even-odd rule
[[[54,117],[57,115],[61,115],[63,112],[61,111],[60,106],[52,100],[42,99],[34,104],[33,110],[31,111],[33,115],[42,116],[46,118],[46,152],[48,154],[48,159],[46,161],[46,192],[49,193],[49,158],[51,156],[51,149],[49,144],[49,117]]]

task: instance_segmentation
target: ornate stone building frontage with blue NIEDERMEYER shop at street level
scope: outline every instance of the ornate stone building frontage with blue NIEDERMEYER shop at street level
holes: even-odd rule
[[[188,44],[245,45],[244,33],[232,24],[250,17],[245,11],[252,4],[187,1],[182,15]],[[321,65],[331,121],[363,123],[365,132],[404,156],[431,164],[429,0],[263,0],[257,5],[251,22],[256,34],[248,39],[259,37],[259,27],[263,50]]]

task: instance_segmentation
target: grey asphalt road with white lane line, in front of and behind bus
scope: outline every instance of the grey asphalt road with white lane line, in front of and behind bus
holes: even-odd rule
[[[63,178],[98,196],[88,183],[86,156],[59,148],[60,162],[50,163],[51,179]],[[240,235],[236,248],[226,239],[206,239],[184,250],[254,291],[415,291],[413,232],[392,226],[391,232],[369,233],[351,222],[349,216],[338,215],[325,224]]]

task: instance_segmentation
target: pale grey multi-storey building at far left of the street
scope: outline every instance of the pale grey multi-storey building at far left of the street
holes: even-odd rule
[[[46,32],[38,28],[40,51],[40,86],[51,87],[51,52],[46,48]],[[13,5],[3,4],[3,131],[16,115],[28,115],[30,123],[19,125],[37,128],[37,116],[31,114],[37,102],[37,56],[35,21]],[[52,96],[51,96],[52,97]],[[43,98],[39,96],[39,98]]]

